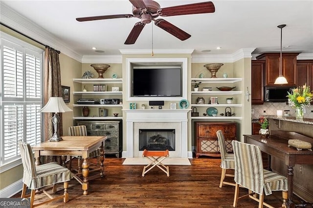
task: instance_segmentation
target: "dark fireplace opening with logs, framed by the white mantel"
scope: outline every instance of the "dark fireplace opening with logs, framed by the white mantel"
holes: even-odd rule
[[[175,151],[175,129],[139,129],[139,150]]]

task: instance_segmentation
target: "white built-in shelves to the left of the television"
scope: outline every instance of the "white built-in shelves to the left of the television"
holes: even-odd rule
[[[103,78],[103,79],[73,79],[73,82],[75,83],[81,83],[81,84],[122,84],[123,79],[122,78],[117,78],[117,79],[111,79],[111,78]],[[117,95],[119,98],[122,98],[123,91],[73,91],[73,95],[81,95],[82,98],[94,98],[92,96],[114,96]],[[90,97],[91,96],[91,97]],[[96,97],[97,98],[97,97]],[[103,98],[103,97],[101,97]],[[97,98],[98,99],[98,98]],[[105,99],[105,98],[104,98]],[[81,108],[83,106],[87,107],[103,107],[103,108],[121,108],[123,107],[122,104],[73,104],[73,107],[75,108]],[[120,114],[122,115],[122,111],[120,110]],[[106,116],[106,117],[98,117],[98,116],[88,116],[88,117],[83,117],[83,116],[78,116],[78,117],[73,117],[73,120],[121,120],[122,116]]]

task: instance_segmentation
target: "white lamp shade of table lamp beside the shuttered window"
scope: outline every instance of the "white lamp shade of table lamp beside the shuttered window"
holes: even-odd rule
[[[48,103],[38,112],[63,113],[67,111],[72,111],[72,109],[67,107],[62,97],[50,97]]]

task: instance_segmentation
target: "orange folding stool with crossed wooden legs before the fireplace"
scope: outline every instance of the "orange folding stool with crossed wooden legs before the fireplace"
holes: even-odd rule
[[[169,156],[168,149],[166,149],[165,151],[148,151],[147,149],[145,149],[145,150],[143,150],[142,156],[148,158],[151,161],[151,163],[149,165],[143,167],[142,177],[145,176],[145,174],[147,172],[149,172],[155,166],[157,166],[163,172],[165,172],[167,177],[170,176],[169,167],[164,166],[161,163],[165,158],[167,158]],[[151,166],[151,167],[149,169],[147,169],[149,166]]]

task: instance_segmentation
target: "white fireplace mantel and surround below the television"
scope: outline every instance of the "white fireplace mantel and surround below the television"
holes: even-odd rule
[[[138,151],[136,141],[137,125],[150,125],[150,128],[158,128],[157,125],[166,123],[169,128],[176,129],[177,142],[176,151],[172,152],[174,157],[187,158],[187,136],[188,136],[188,111],[190,109],[123,109],[126,112],[126,152],[125,157],[138,157],[141,152]],[[172,127],[171,127],[172,125]],[[173,127],[174,126],[174,127]],[[135,131],[134,131],[135,128]],[[171,156],[171,153],[170,153]]]

